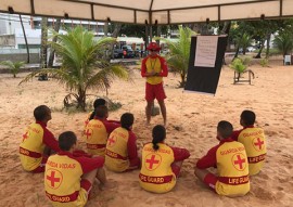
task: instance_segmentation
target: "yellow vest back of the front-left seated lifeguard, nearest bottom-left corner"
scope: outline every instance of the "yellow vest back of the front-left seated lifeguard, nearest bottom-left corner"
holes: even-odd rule
[[[79,195],[80,164],[66,155],[52,155],[46,164],[44,190],[53,206],[85,206],[87,197]]]

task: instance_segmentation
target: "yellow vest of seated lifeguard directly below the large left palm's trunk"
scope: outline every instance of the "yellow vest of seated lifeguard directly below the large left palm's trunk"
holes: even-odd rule
[[[105,156],[107,135],[104,124],[99,119],[91,119],[84,133],[88,153],[91,155]]]

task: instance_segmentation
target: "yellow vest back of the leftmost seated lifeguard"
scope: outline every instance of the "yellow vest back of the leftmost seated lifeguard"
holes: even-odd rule
[[[20,145],[20,157],[23,168],[33,171],[41,164],[44,144],[42,143],[43,129],[39,124],[31,124],[23,134]]]

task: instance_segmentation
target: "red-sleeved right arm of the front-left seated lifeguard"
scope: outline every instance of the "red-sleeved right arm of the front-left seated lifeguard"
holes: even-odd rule
[[[75,157],[75,159],[81,165],[81,169],[84,173],[88,173],[97,168],[101,168],[104,166],[105,158],[102,156],[98,157]]]

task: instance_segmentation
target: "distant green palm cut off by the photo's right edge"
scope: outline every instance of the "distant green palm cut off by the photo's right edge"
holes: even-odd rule
[[[277,46],[278,50],[280,50],[284,55],[290,54],[293,50],[293,38],[292,33],[281,31],[275,39],[273,43]]]

